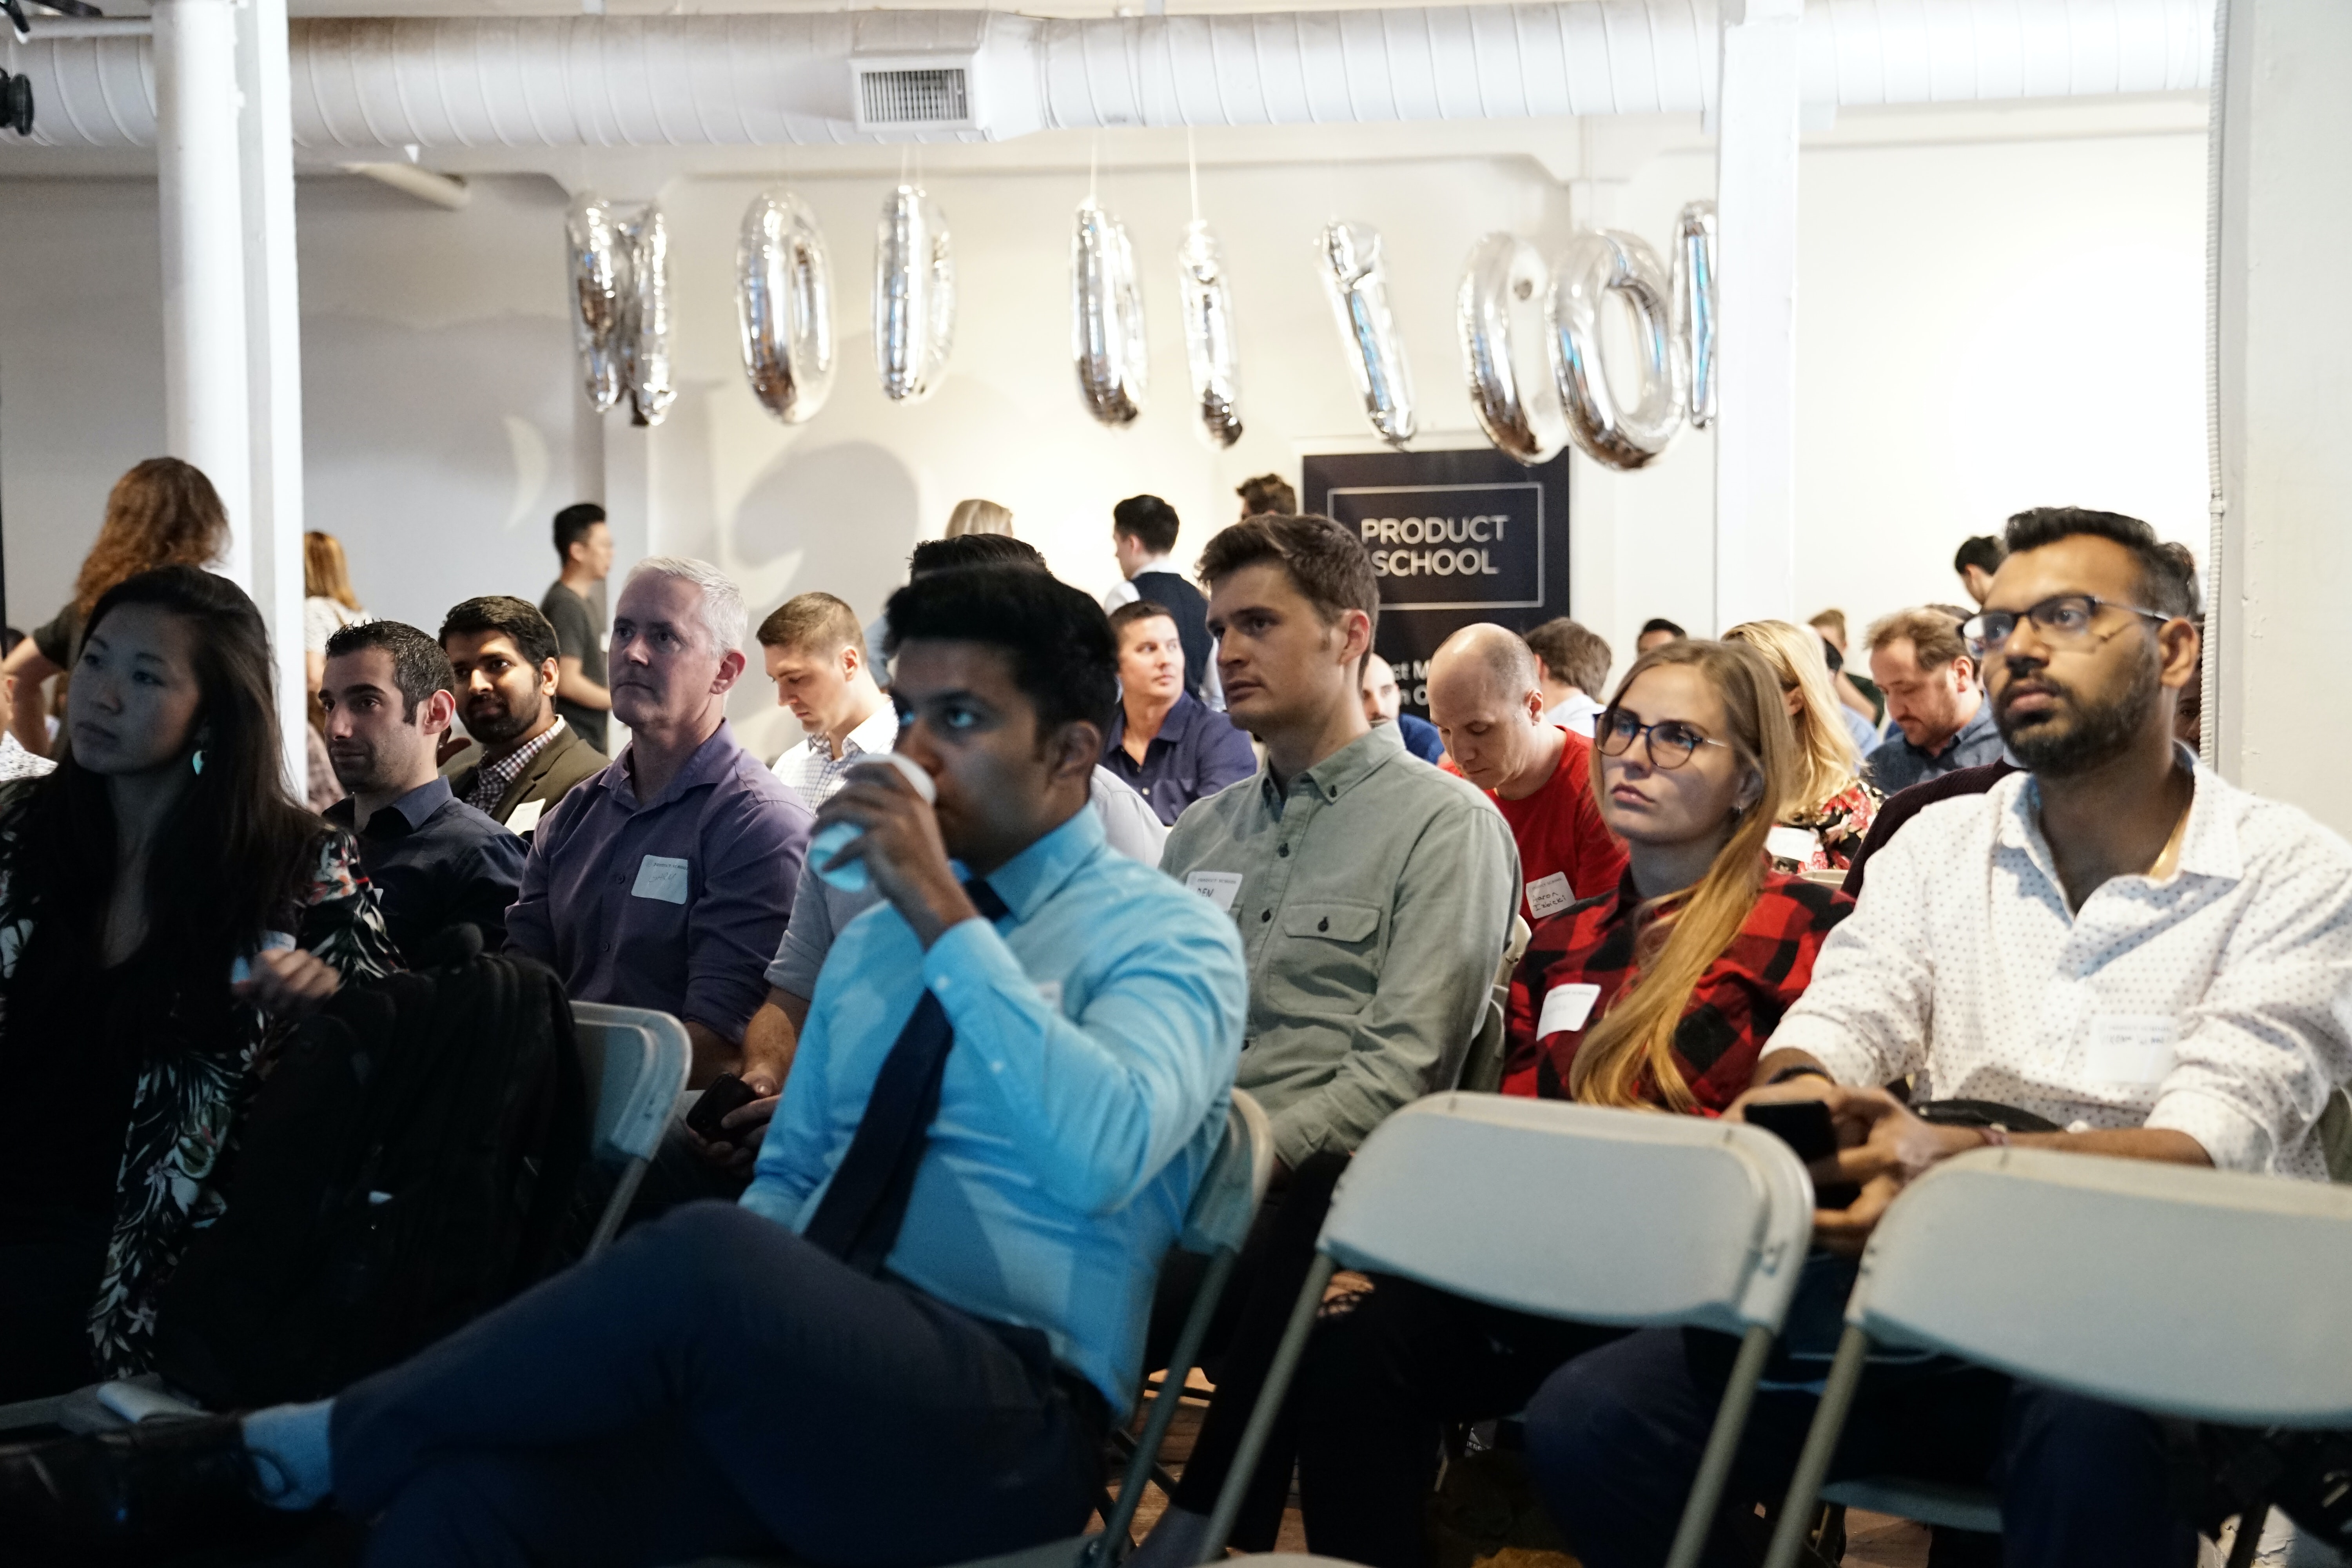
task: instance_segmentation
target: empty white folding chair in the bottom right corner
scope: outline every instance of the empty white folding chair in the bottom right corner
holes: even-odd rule
[[[2154,1415],[2343,1429],[2345,1300],[2343,1187],[2051,1150],[1940,1164],[1863,1251],[1766,1568],[1797,1561],[1816,1497],[1999,1530],[1992,1493],[1900,1476],[1823,1488],[1872,1347],[1943,1352]],[[2234,1568],[2260,1533],[2260,1519],[2239,1521]]]

